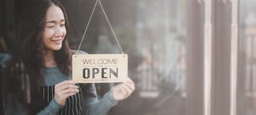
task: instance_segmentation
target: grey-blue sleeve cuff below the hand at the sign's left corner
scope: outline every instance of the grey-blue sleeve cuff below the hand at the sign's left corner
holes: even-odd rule
[[[45,109],[42,109],[37,115],[56,115],[58,110],[62,108],[62,105],[59,105],[55,99],[50,101],[50,104],[46,106]]]

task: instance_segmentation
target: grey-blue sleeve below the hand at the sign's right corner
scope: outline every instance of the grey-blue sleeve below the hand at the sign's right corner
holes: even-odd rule
[[[82,113],[84,115],[106,115],[111,107],[118,103],[118,101],[114,99],[113,91],[110,90],[105,93],[101,100],[98,100],[94,84],[92,84],[92,88],[92,93],[94,93],[96,97],[85,97]]]

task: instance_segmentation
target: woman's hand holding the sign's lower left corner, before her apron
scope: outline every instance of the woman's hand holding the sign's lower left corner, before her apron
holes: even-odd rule
[[[78,93],[78,86],[74,81],[62,81],[54,86],[54,99],[59,105],[65,105],[67,97]]]

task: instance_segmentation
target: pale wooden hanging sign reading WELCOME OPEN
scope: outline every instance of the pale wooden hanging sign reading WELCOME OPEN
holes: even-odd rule
[[[72,77],[78,83],[122,82],[128,77],[128,55],[74,54]]]

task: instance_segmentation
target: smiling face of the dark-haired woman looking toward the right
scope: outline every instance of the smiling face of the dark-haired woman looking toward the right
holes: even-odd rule
[[[50,6],[46,11],[46,25],[42,33],[45,50],[60,50],[66,36],[65,18],[58,6]]]

